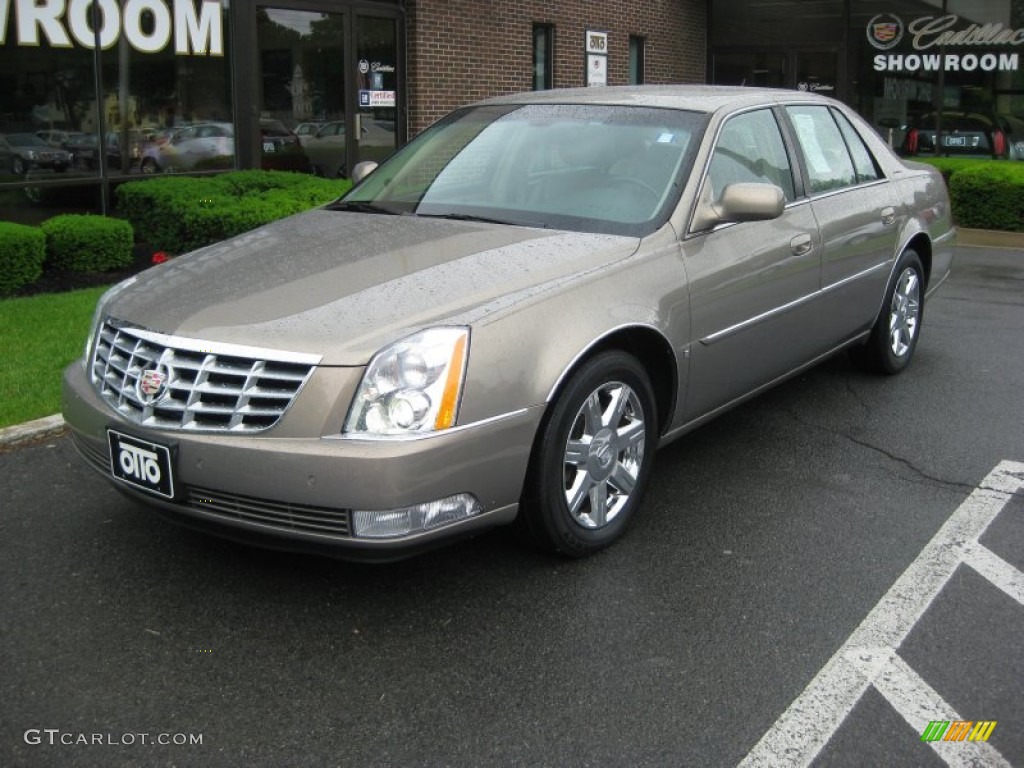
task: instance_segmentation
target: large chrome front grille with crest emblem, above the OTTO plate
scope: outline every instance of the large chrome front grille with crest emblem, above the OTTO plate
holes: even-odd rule
[[[96,336],[92,383],[136,424],[158,429],[258,432],[284,415],[319,357],[213,343],[108,321]],[[141,385],[143,373],[159,381]],[[153,382],[147,385],[153,388]]]

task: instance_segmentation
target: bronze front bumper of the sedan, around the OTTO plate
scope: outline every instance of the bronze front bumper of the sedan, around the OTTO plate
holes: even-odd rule
[[[75,362],[65,372],[63,416],[90,466],[177,522],[274,549],[394,560],[514,519],[543,408],[402,440],[273,436],[289,434],[289,414],[258,436],[154,430],[114,412]],[[170,449],[174,499],[112,475],[108,429]],[[457,494],[473,495],[483,511],[392,539],[352,534],[352,510],[398,509]]]

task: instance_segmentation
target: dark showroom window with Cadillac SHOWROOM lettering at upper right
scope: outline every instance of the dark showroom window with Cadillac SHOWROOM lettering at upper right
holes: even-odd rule
[[[1024,159],[1021,34],[1018,0],[855,0],[854,106],[907,157]]]

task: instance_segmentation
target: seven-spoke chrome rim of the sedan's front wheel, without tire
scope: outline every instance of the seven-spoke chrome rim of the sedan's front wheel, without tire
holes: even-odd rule
[[[646,435],[640,398],[610,381],[591,392],[565,441],[565,503],[585,528],[601,528],[626,507],[643,465]]]

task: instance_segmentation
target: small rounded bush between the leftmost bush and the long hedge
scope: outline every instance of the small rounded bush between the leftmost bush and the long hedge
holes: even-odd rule
[[[105,272],[132,265],[131,224],[106,216],[69,213],[43,222],[47,262],[76,272]]]

